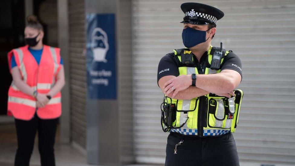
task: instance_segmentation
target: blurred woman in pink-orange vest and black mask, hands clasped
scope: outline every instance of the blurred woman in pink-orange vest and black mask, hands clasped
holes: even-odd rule
[[[8,90],[9,116],[15,118],[18,149],[16,166],[29,165],[38,130],[41,165],[54,166],[54,141],[61,115],[61,93],[65,84],[60,49],[44,45],[43,26],[28,16],[24,29],[27,45],[8,53],[13,78]]]

